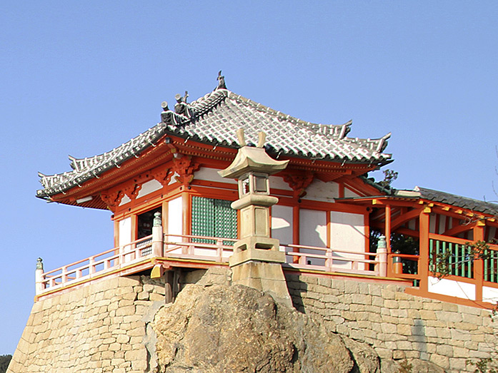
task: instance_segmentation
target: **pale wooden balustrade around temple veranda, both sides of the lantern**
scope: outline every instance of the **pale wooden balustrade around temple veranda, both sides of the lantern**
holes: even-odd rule
[[[153,239],[151,235],[64,265],[56,270],[41,272],[37,275],[36,295],[65,287],[71,282],[80,282],[92,277],[101,277],[106,273],[114,273],[116,270],[136,265],[151,257],[201,260],[213,263],[228,262],[233,253],[234,242],[236,242],[231,238],[198,235],[166,234],[161,237],[163,237],[162,242],[160,237]],[[379,262],[380,255],[375,252],[292,244],[281,244],[281,247],[286,252],[287,263],[284,264],[286,267],[385,277],[385,274],[379,272],[379,264],[382,263]],[[294,262],[294,257],[299,260]]]

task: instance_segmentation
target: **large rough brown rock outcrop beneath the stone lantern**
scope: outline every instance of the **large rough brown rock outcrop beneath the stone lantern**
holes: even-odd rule
[[[161,373],[380,373],[381,364],[390,372],[400,367],[244,286],[187,285],[151,326]],[[424,372],[443,372],[430,365]]]

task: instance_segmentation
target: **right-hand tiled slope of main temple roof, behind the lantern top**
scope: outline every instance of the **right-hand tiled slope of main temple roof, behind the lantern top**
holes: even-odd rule
[[[387,136],[378,139],[347,138],[351,122],[334,126],[309,123],[274,111],[225,89],[189,104],[191,116],[168,111],[162,114],[167,131],[206,143],[238,147],[236,130],[244,128],[256,141],[267,133],[267,150],[281,155],[359,163],[385,163],[391,155],[382,151]]]

